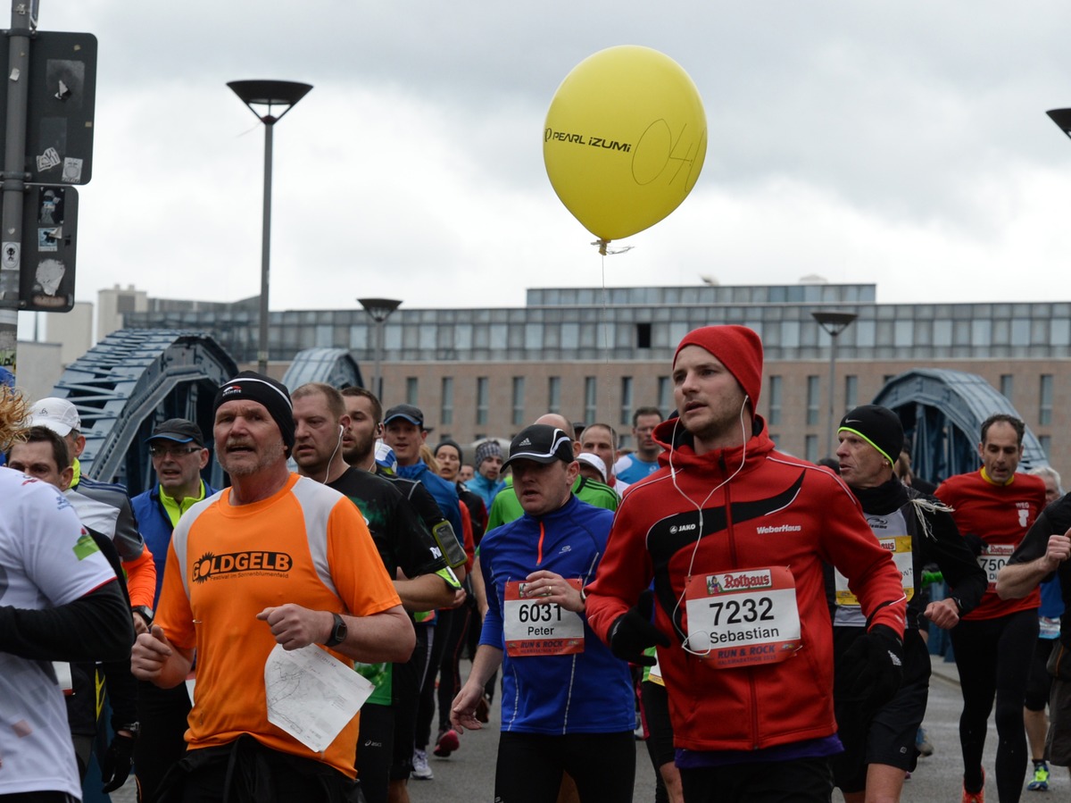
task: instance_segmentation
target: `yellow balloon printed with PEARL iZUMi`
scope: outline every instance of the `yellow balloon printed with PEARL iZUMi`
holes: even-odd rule
[[[653,226],[691,192],[707,154],[695,84],[668,56],[620,45],[589,56],[546,114],[543,161],[561,203],[601,240]]]

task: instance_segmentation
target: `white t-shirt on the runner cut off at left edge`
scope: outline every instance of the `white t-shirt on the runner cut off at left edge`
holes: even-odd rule
[[[0,469],[0,606],[54,608],[116,579],[56,488]],[[0,795],[61,791],[81,798],[50,661],[0,652]]]

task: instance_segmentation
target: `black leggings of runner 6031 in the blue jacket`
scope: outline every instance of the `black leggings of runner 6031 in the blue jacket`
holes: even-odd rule
[[[495,800],[555,803],[562,772],[576,782],[582,803],[632,803],[635,735],[631,730],[554,737],[504,731],[498,740]]]

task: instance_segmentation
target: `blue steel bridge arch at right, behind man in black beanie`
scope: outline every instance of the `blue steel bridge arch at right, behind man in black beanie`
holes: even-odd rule
[[[1023,418],[1008,399],[978,374],[917,368],[893,377],[874,404],[900,416],[911,443],[911,470],[931,482],[978,469],[982,422],[994,413]],[[1027,428],[1022,471],[1049,465],[1044,449]]]

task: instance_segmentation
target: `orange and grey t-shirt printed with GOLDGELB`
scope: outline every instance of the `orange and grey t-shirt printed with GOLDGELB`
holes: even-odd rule
[[[336,491],[291,474],[261,502],[231,506],[229,493],[182,517],[156,611],[171,643],[197,650],[186,742],[191,749],[211,747],[250,733],[355,777],[358,717],[322,755],[268,722],[265,661],[275,640],[256,615],[287,603],[372,615],[401,604],[391,578],[360,511]]]

